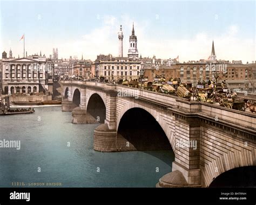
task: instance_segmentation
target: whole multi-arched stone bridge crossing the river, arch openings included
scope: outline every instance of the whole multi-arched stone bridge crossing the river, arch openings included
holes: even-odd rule
[[[255,114],[117,84],[62,87],[72,123],[100,123],[93,149],[173,150],[172,172],[157,187],[208,187],[231,169],[256,165]]]

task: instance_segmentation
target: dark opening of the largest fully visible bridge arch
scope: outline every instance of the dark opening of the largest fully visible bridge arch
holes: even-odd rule
[[[117,141],[129,142],[128,150],[173,150],[158,119],[149,111],[133,107],[125,111],[117,126]],[[128,151],[127,150],[127,151]]]

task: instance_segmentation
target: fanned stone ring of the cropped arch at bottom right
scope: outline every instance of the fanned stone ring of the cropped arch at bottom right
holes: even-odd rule
[[[252,149],[254,149],[252,147]],[[204,186],[209,187],[214,185],[214,180],[221,176],[226,175],[225,173],[232,172],[233,169],[239,169],[241,167],[248,167],[256,165],[256,161],[253,156],[253,152],[246,149],[241,151],[228,151],[223,155],[215,158],[209,164],[205,164],[202,168],[202,174],[204,178]]]

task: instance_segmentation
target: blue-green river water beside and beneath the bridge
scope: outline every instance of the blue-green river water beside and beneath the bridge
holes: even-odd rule
[[[20,150],[0,148],[0,187],[155,187],[171,172],[172,151],[97,152],[97,124],[72,124],[61,107],[35,110],[0,116],[0,140],[21,140]]]

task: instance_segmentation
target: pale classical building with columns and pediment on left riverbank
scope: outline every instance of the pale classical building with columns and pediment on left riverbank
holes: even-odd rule
[[[4,94],[39,93],[48,90],[45,56],[3,59]]]

